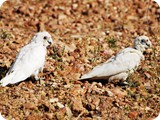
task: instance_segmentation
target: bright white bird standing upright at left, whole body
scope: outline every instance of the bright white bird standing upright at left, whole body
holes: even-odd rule
[[[51,35],[44,31],[37,33],[31,42],[18,53],[15,62],[6,76],[0,81],[2,86],[15,84],[34,76],[38,80],[38,73],[43,71],[47,46],[52,43]]]

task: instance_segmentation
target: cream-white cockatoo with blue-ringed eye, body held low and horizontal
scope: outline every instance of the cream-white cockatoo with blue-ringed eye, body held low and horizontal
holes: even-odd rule
[[[83,75],[80,80],[108,79],[109,82],[122,80],[125,83],[127,77],[138,68],[141,60],[144,60],[143,52],[150,46],[151,41],[147,36],[139,36],[134,40],[133,47],[123,49],[116,56]]]

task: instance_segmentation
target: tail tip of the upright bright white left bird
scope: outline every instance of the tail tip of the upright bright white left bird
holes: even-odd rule
[[[13,77],[14,77],[14,74],[12,74],[12,73],[6,74],[6,76],[3,79],[1,79],[0,86],[6,86],[6,85],[10,84]]]

